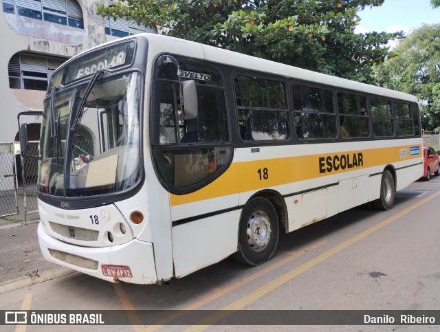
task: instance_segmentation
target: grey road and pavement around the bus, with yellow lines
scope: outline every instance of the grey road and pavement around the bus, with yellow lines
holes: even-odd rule
[[[440,177],[417,181],[397,192],[395,207],[390,211],[377,212],[362,206],[281,234],[278,251],[264,265],[246,267],[228,258],[157,286],[112,284],[68,269],[52,269],[37,250],[36,223],[2,226],[0,249],[6,241],[10,241],[8,245],[19,245],[13,245],[15,250],[8,258],[1,255],[0,310],[110,309],[126,313],[124,326],[94,327],[94,331],[181,331],[187,327],[169,325],[177,324],[181,313],[169,310],[194,309],[213,313],[207,326],[197,325],[191,330],[439,331],[440,318],[436,326],[215,325],[224,319],[215,313],[221,309],[245,310],[241,311],[243,315],[278,310],[267,317],[267,324],[278,325],[283,323],[283,310],[348,310],[340,314],[353,310],[435,310],[440,314],[439,190]],[[41,276],[27,275],[36,269]],[[10,282],[8,276],[16,273],[21,279]],[[164,310],[164,320],[146,327],[142,310]],[[263,317],[256,317],[256,321],[261,322]],[[28,331],[48,328],[32,326]],[[88,328],[76,326],[75,330]],[[72,327],[52,329],[69,331]]]

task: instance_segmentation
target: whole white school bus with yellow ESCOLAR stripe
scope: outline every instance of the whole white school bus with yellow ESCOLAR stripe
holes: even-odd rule
[[[59,67],[44,104],[39,242],[48,261],[155,284],[423,174],[417,99],[156,34]]]

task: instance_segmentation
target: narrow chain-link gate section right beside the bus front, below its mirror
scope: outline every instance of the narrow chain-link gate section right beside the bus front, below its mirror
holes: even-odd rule
[[[28,155],[39,155],[39,142],[29,142]],[[23,196],[25,218],[30,213],[38,212],[36,201],[38,166],[39,162],[35,159],[23,158]]]

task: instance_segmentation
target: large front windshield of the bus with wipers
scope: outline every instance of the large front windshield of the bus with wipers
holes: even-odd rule
[[[101,195],[140,180],[140,74],[94,79],[45,100],[39,192]]]

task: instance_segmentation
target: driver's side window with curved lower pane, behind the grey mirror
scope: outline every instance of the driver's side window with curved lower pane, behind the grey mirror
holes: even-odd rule
[[[179,104],[179,85],[161,82],[160,88],[162,146],[155,150],[157,166],[168,186],[194,186],[223,170],[230,158],[229,146],[210,146],[229,140],[224,89],[197,85],[197,118],[185,120]]]

